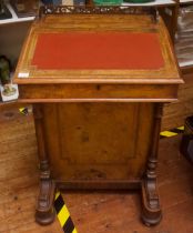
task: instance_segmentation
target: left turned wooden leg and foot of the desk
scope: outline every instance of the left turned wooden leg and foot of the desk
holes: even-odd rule
[[[33,105],[33,114],[40,159],[40,193],[37,201],[35,221],[45,225],[52,223],[55,216],[53,207],[55,185],[50,176],[50,168],[43,136],[41,105]]]

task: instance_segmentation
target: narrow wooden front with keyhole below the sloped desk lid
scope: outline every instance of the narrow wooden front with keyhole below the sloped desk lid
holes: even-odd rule
[[[20,99],[28,102],[70,100],[151,100],[176,99],[177,85],[173,84],[21,84]]]

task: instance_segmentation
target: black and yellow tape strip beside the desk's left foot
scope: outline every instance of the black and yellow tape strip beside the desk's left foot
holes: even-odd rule
[[[55,212],[57,212],[57,215],[58,215],[58,219],[59,219],[59,222],[63,232],[78,233],[72,222],[72,219],[70,216],[70,212],[68,211],[67,205],[63,201],[63,197],[59,191],[55,194],[54,207],[55,207]]]

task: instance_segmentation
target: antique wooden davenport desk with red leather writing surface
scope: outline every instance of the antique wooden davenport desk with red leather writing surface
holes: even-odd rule
[[[139,189],[142,220],[156,224],[162,105],[183,83],[167,31],[162,19],[138,10],[77,9],[41,10],[14,75],[20,101],[33,104],[35,220],[53,221],[55,186]]]

